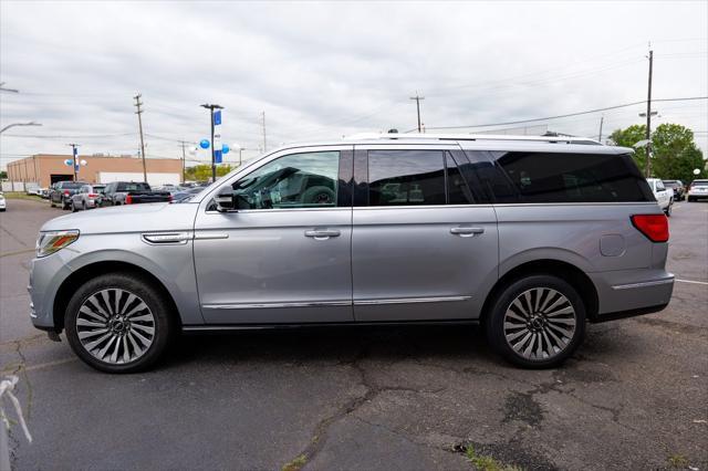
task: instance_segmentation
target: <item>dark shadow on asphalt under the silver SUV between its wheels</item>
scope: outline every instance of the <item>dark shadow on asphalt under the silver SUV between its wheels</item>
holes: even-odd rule
[[[395,362],[405,358],[478,358],[501,363],[476,325],[342,326],[186,334],[163,367],[189,363],[287,362],[347,363],[363,355]]]

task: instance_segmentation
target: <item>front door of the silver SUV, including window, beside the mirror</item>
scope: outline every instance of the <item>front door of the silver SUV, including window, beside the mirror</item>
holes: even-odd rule
[[[207,196],[195,221],[195,270],[211,324],[351,322],[352,146],[283,150],[231,186],[238,209]]]

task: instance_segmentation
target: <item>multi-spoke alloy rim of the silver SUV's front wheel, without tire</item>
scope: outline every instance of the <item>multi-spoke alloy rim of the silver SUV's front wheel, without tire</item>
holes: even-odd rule
[[[155,316],[129,291],[108,289],[92,294],[76,315],[76,335],[101,362],[122,365],[140,358],[155,341]]]

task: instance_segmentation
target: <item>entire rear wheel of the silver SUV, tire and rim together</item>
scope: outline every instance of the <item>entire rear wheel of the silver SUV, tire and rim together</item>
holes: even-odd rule
[[[524,368],[561,365],[583,342],[585,306],[565,281],[531,275],[497,295],[485,323],[492,348]]]

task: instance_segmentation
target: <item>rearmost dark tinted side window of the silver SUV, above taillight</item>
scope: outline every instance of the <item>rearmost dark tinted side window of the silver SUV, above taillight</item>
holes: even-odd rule
[[[492,153],[522,202],[653,201],[627,155]]]

